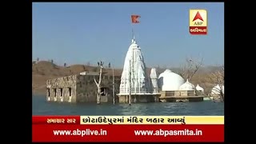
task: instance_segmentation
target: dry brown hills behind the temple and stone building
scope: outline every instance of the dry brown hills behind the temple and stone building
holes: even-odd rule
[[[160,74],[166,69],[156,68],[157,73]],[[209,91],[214,84],[210,82],[208,74],[214,70],[218,70],[218,66],[202,67],[198,70],[198,73],[194,75],[191,82],[196,86],[198,83],[200,86]],[[151,68],[147,68],[147,74],[150,74]],[[178,73],[178,68],[171,68],[170,70]],[[98,71],[96,66],[85,66],[85,65],[72,65],[72,66],[57,66],[54,63],[47,61],[40,61],[34,63],[32,66],[32,90],[34,94],[45,94],[46,93],[46,80],[50,78],[58,78],[68,76],[72,74],[79,74],[83,71]],[[105,72],[107,75],[112,75],[112,69],[106,68]],[[121,76],[122,69],[114,69],[114,75]]]

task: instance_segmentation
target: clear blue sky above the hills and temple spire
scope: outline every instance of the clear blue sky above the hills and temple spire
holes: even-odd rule
[[[189,10],[205,9],[208,34],[191,35]],[[131,24],[138,14],[138,24]],[[33,60],[122,68],[132,29],[146,66],[175,67],[186,58],[224,64],[224,2],[34,2]]]

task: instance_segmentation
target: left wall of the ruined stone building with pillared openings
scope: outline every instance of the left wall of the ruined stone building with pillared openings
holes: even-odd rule
[[[52,102],[76,102],[77,75],[46,81],[46,99]]]

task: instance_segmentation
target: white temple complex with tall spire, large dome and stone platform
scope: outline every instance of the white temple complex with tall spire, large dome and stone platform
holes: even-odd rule
[[[152,68],[150,74],[146,74],[142,50],[132,38],[123,66],[119,102],[201,102],[203,90],[197,88],[171,70],[158,76]]]

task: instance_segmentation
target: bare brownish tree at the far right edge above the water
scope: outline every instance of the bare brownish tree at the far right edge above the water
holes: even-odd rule
[[[224,86],[224,66],[221,67],[221,70],[215,70],[213,73],[210,74],[210,80],[216,83],[220,90],[218,90],[220,94],[221,102],[224,102],[224,93],[223,93],[223,86]]]

